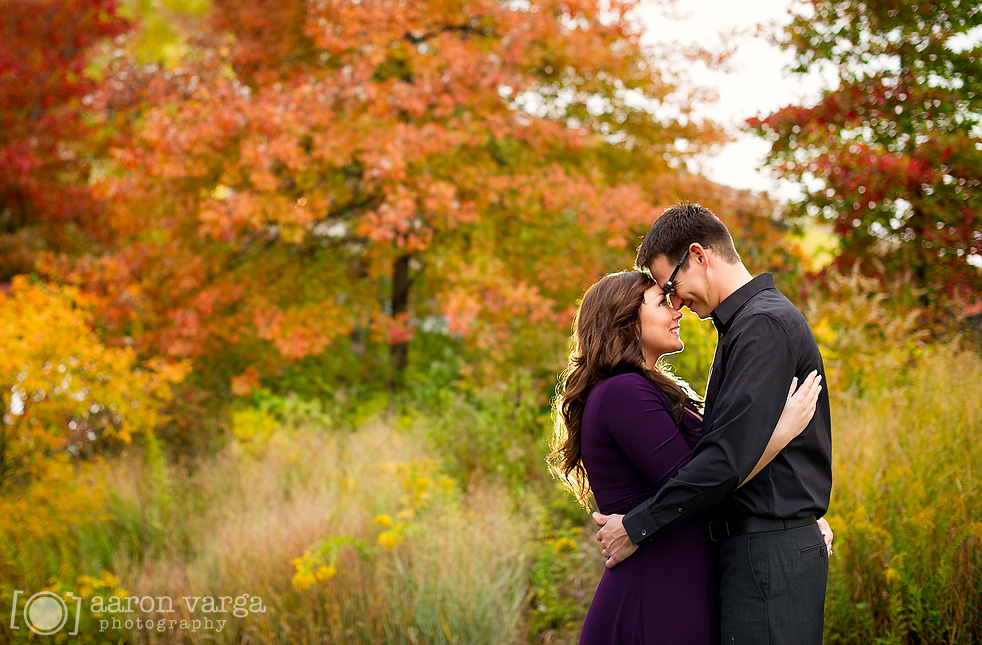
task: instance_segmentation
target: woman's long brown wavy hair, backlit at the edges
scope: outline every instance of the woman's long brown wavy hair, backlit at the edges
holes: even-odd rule
[[[640,312],[644,292],[655,284],[640,271],[611,273],[587,289],[573,318],[573,348],[553,402],[556,424],[548,462],[584,508],[589,506],[590,484],[580,450],[580,425],[597,383],[627,372],[644,376],[665,394],[669,414],[683,430],[685,404],[701,407],[687,385],[660,368],[644,366]]]

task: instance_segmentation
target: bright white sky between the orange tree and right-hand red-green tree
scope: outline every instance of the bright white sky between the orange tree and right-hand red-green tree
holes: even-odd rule
[[[767,115],[792,103],[805,104],[817,100],[828,80],[817,75],[792,76],[786,68],[792,61],[789,52],[754,36],[758,23],[790,20],[790,0],[680,0],[673,9],[682,19],[666,19],[660,3],[642,0],[639,17],[646,26],[646,41],[678,41],[682,44],[700,42],[715,46],[723,42],[723,34],[737,30],[739,35],[728,36],[735,45],[727,72],[709,71],[704,65],[690,70],[693,82],[711,88],[719,95],[714,104],[704,106],[697,115],[712,118],[725,126],[736,141],[726,145],[718,154],[700,159],[703,173],[713,181],[754,191],[768,191],[777,197],[798,195],[794,184],[779,181],[767,171],[758,170],[769,146],[761,138],[740,133],[740,125],[748,118]]]

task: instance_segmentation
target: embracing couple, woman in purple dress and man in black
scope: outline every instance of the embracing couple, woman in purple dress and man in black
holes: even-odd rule
[[[636,266],[583,296],[556,399],[553,465],[593,493],[607,559],[580,643],[821,643],[832,432],[811,330],[701,206],[666,210]],[[658,364],[683,306],[719,334],[704,405]]]

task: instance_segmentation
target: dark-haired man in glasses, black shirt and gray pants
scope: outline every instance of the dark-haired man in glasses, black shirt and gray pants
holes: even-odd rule
[[[721,642],[821,643],[828,550],[816,519],[832,489],[828,387],[804,432],[739,487],[781,416],[787,383],[815,369],[825,378],[815,338],[773,276],[751,276],[726,226],[697,204],[666,210],[638,247],[636,264],[673,306],[711,317],[719,340],[704,437],[689,463],[626,516],[594,514],[607,566],[706,512],[719,547]]]

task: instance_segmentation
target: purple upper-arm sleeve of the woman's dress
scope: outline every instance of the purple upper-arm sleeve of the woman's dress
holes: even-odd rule
[[[604,427],[638,472],[658,485],[674,475],[691,450],[658,387],[640,374],[615,377],[598,407]]]

